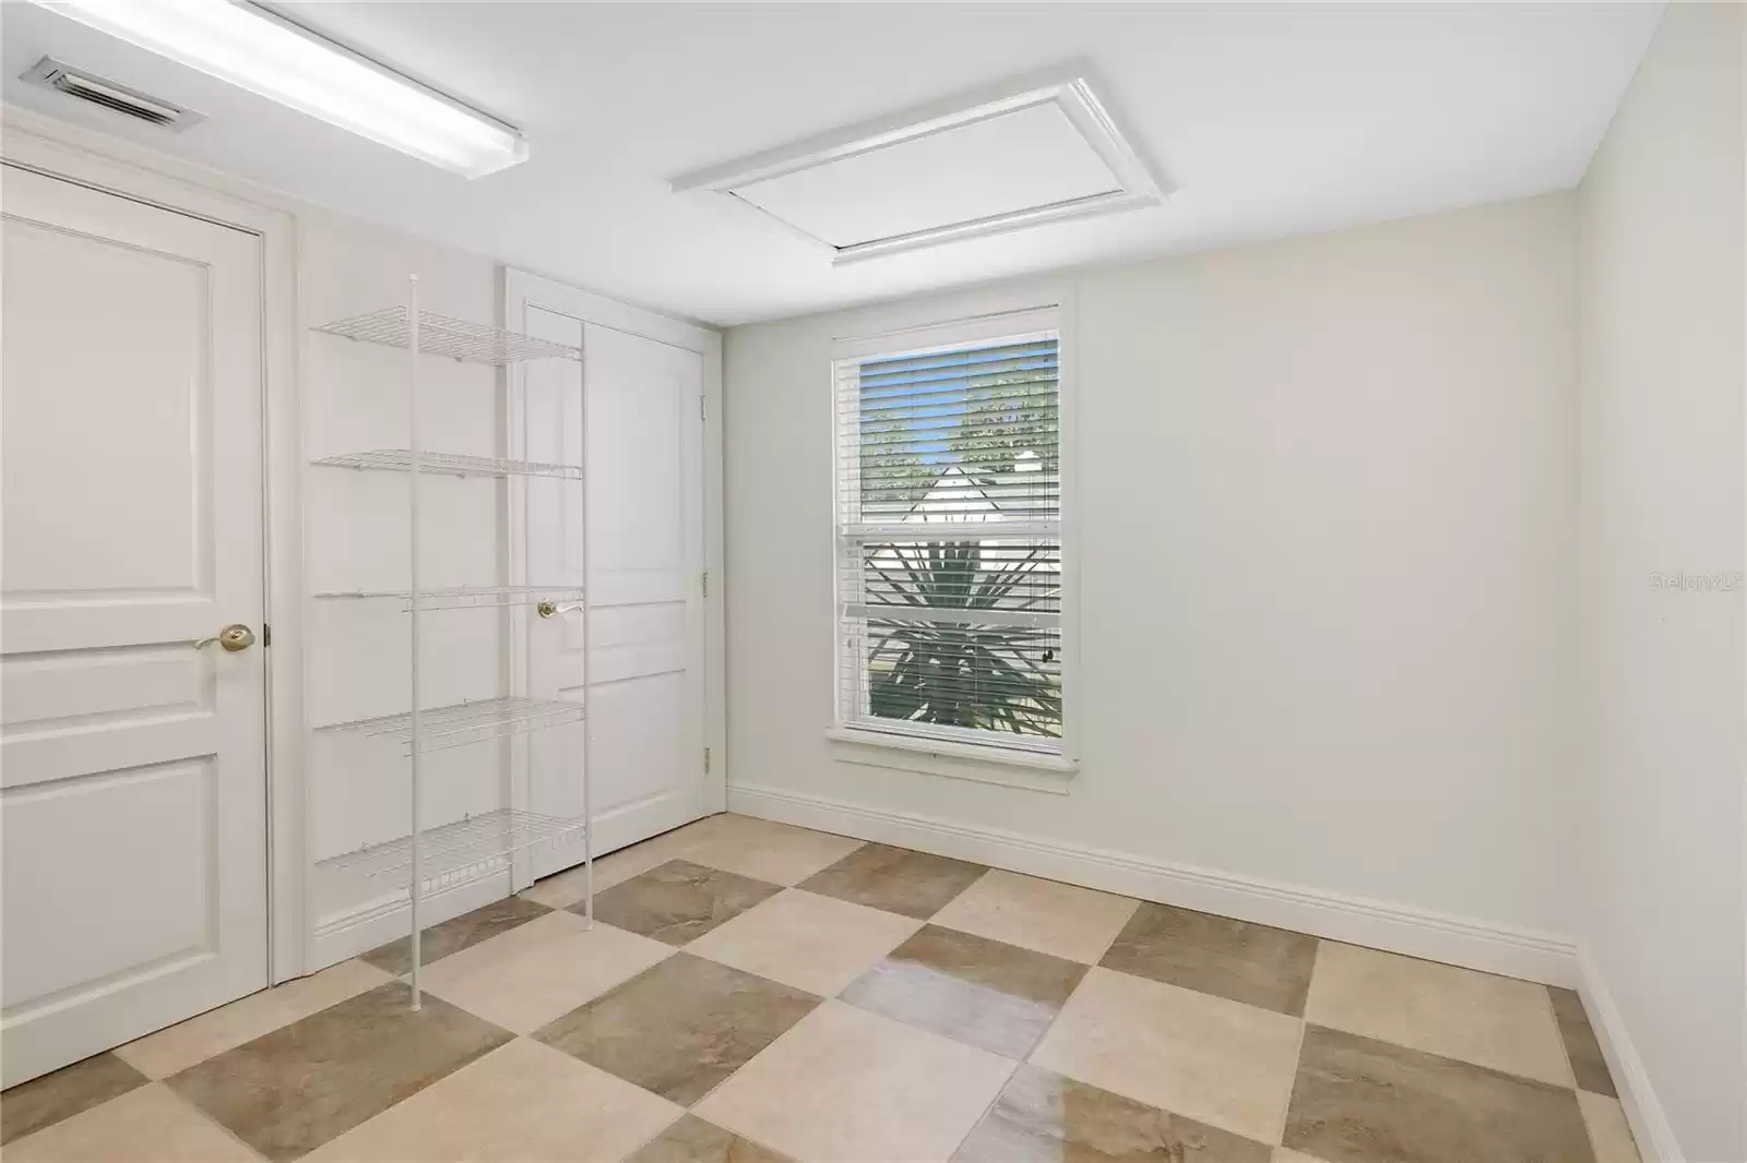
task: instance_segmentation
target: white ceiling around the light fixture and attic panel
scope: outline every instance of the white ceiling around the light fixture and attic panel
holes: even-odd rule
[[[533,159],[452,176],[65,17],[0,5],[5,100],[718,325],[1574,185],[1660,3],[292,3]],[[51,54],[189,105],[166,134],[26,86]],[[667,180],[1085,61],[1162,208],[832,267]],[[117,124],[119,122],[119,124]]]

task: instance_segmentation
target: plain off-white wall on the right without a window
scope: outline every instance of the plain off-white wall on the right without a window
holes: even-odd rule
[[[1747,599],[1649,575],[1747,564],[1744,17],[1668,7],[1579,192],[1579,931],[1646,1158],[1693,1163],[1747,1160]]]

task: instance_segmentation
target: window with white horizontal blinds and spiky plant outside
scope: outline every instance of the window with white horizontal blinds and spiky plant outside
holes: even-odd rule
[[[833,361],[839,726],[1060,756],[1057,313],[910,341]]]

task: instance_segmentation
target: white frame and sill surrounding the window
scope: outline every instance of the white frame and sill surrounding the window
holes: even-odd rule
[[[832,726],[826,737],[840,744],[839,756],[851,763],[900,770],[922,770],[978,782],[1006,782],[991,777],[994,768],[1029,768],[1038,782],[1015,786],[1057,789],[1062,775],[1080,768],[1078,749],[1078,686],[1080,686],[1080,602],[1076,552],[1076,456],[1074,456],[1074,344],[1071,311],[1066,304],[1003,311],[945,323],[929,323],[905,330],[837,339],[826,368],[830,379],[830,440],[832,440]],[[1059,458],[1060,458],[1060,667],[1062,667],[1062,735],[1057,744],[1039,746],[1024,735],[1012,742],[992,732],[966,732],[963,728],[907,726],[901,723],[872,726],[865,719],[847,721],[842,705],[842,676],[851,660],[846,657],[842,608],[842,458],[839,444],[837,365],[844,360],[867,360],[952,349],[980,342],[1017,339],[1050,332],[1055,334],[1057,396],[1059,396]],[[998,740],[999,739],[999,740]]]

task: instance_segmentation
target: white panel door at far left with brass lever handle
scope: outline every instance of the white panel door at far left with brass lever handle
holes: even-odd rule
[[[260,250],[5,168],[3,1084],[267,985]]]

